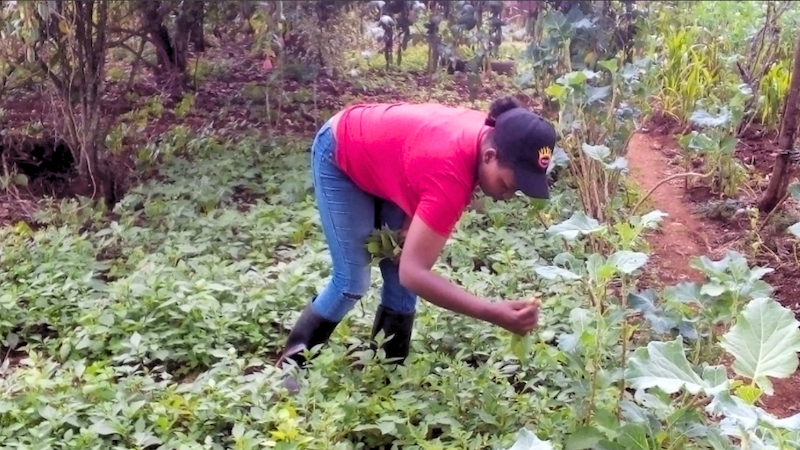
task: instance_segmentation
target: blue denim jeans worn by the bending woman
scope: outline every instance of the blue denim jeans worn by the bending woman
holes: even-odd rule
[[[333,276],[312,304],[314,311],[330,321],[341,321],[370,286],[371,255],[366,241],[380,226],[400,230],[405,213],[397,205],[361,190],[336,165],[336,142],[330,122],[317,133],[311,146],[314,193],[322,230],[328,242]],[[398,314],[416,310],[417,296],[400,284],[399,264],[384,259],[381,305]]]

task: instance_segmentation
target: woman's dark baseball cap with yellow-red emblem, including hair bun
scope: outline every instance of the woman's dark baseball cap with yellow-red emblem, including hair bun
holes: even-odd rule
[[[514,169],[517,189],[528,197],[549,199],[547,168],[557,140],[553,125],[525,108],[512,108],[494,120],[494,129],[497,151]]]

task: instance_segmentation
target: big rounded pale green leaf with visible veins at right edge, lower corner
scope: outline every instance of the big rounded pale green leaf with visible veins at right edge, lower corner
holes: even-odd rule
[[[768,395],[767,377],[786,378],[797,370],[800,351],[798,321],[791,311],[769,298],[752,300],[720,345],[733,355],[733,370],[752,379]]]

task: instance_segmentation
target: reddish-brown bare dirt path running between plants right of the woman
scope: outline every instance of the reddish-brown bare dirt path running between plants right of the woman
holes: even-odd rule
[[[641,133],[636,133],[628,145],[628,166],[643,195],[677,172],[659,151],[662,145]],[[677,179],[659,186],[647,200],[655,209],[668,214],[660,229],[648,239],[653,249],[650,275],[664,284],[702,280],[700,274],[689,267],[689,261],[711,250],[706,244],[708,239],[702,222],[692,214],[683,196],[683,180]],[[646,212],[638,211],[639,214]]]

